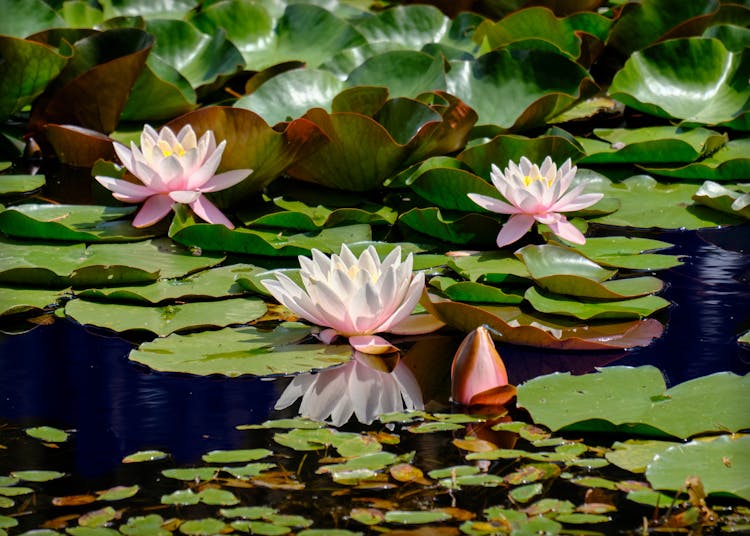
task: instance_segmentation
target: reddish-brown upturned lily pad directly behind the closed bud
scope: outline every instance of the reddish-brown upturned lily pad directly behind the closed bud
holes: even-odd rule
[[[424,301],[423,301],[424,304]],[[612,350],[647,346],[660,337],[663,326],[656,320],[591,323],[550,320],[525,313],[519,307],[475,306],[453,301],[426,303],[440,320],[464,332],[488,325],[498,340],[523,346],[558,350]]]

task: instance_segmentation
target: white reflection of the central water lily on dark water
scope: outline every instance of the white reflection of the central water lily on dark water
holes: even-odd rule
[[[339,367],[295,376],[275,409],[287,408],[300,397],[301,416],[335,426],[352,415],[370,424],[385,413],[424,409],[419,384],[398,354],[380,357],[354,351]]]

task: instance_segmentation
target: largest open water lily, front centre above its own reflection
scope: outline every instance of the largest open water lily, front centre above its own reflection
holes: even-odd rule
[[[373,246],[356,257],[346,245],[330,257],[317,249],[312,259],[300,256],[301,288],[287,275],[262,283],[297,316],[322,326],[325,343],[337,336],[367,354],[396,350],[377,333],[429,333],[443,324],[432,315],[412,315],[424,289],[424,274],[413,273],[411,253],[401,260],[396,247],[381,262]]]

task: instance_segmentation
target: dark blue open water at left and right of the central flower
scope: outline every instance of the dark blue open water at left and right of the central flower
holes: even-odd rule
[[[747,226],[659,235],[675,244],[665,253],[686,255],[683,266],[657,274],[668,285],[662,295],[675,303],[661,339],[630,352],[504,345],[511,381],[606,364],[656,365],[670,385],[718,371],[749,372],[750,351],[736,342],[750,329],[748,236]],[[274,416],[276,382],[157,373],[131,363],[130,349],[65,321],[0,339],[0,420],[77,430],[76,471],[85,476],[105,473],[146,448],[164,449],[177,463],[211,449],[239,448],[246,432],[236,425]]]

